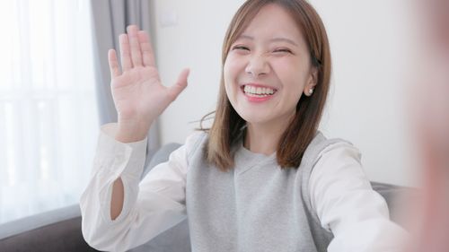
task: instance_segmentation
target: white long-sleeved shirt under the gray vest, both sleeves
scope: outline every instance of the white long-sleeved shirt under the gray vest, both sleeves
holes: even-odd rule
[[[93,248],[125,251],[186,218],[188,152],[194,148],[195,135],[139,184],[146,139],[119,143],[113,137],[116,127],[101,127],[92,178],[80,204],[84,239]],[[112,221],[112,183],[119,177],[125,198],[122,212]],[[326,147],[313,167],[309,187],[321,227],[334,235],[328,251],[401,251],[407,232],[389,220],[388,206],[371,188],[355,147],[348,143]]]

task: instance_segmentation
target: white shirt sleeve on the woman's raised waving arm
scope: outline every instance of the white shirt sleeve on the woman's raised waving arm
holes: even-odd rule
[[[146,139],[120,143],[113,137],[117,124],[101,127],[90,182],[80,199],[86,242],[99,250],[126,251],[168,230],[186,218],[187,149],[172,152],[169,161],[154,167],[140,182],[145,164]],[[124,203],[119,216],[110,218],[112,185],[121,178]]]

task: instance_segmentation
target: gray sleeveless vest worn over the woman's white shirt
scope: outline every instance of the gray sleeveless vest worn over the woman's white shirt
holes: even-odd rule
[[[309,178],[318,154],[331,143],[313,138],[298,169],[280,169],[276,155],[238,144],[235,167],[207,163],[207,134],[189,153],[186,204],[193,252],[327,251],[332,234],[313,211]]]

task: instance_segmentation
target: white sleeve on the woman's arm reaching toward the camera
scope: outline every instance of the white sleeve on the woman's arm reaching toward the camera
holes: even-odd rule
[[[322,228],[333,233],[329,252],[403,251],[408,232],[390,221],[388,205],[373,190],[349,143],[321,152],[310,178],[312,206]]]

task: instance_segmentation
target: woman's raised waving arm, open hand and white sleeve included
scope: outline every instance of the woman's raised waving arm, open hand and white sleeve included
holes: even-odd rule
[[[145,163],[146,135],[164,109],[187,86],[189,70],[172,87],[162,85],[148,34],[136,25],[119,36],[121,68],[110,49],[110,91],[118,123],[104,126],[93,164],[92,178],[81,197],[84,239],[94,248],[124,251],[151,239],[184,218],[183,195],[187,164],[184,149],[161,165],[164,187],[180,195],[163,194],[150,187],[139,194]],[[151,176],[150,176],[151,177]],[[157,183],[156,183],[157,184]]]

